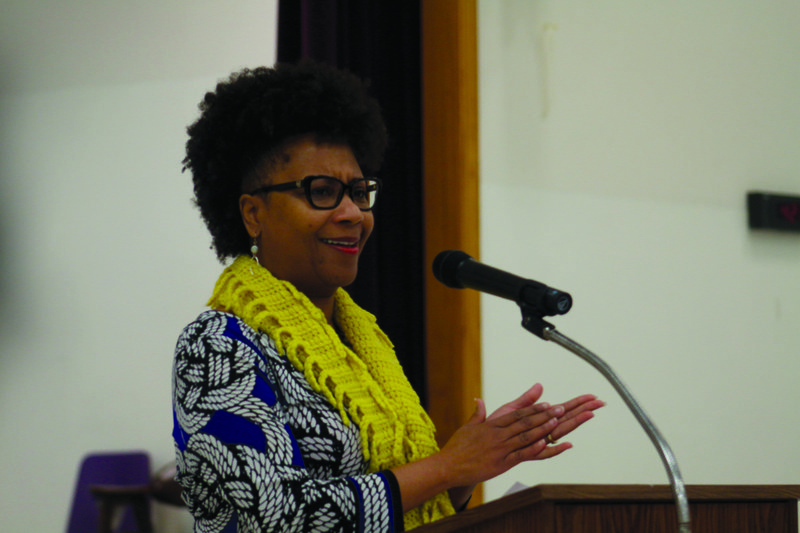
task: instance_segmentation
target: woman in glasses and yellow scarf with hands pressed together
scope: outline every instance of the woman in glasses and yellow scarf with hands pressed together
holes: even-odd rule
[[[402,531],[476,483],[558,455],[602,406],[535,385],[439,450],[392,344],[342,289],[372,232],[386,146],[359,80],[305,63],[234,74],[189,127],[185,168],[220,260],[179,338],[173,436],[195,531]]]

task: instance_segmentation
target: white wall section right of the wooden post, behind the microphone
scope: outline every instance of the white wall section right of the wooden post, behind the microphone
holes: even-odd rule
[[[800,194],[800,4],[479,2],[481,259],[572,293],[559,331],[603,357],[687,483],[800,483],[800,234],[747,228]],[[482,300],[490,405],[608,402],[561,457],[487,483],[666,483],[588,364]]]

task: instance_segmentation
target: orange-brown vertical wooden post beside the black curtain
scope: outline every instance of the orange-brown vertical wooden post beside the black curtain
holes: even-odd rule
[[[428,405],[443,444],[481,395],[480,296],[430,268],[442,250],[480,251],[477,4],[422,0],[421,13]]]

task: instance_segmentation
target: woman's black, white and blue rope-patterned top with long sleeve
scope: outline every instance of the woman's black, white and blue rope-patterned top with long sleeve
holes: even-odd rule
[[[219,312],[178,340],[173,437],[195,531],[402,531],[391,473],[346,475],[326,423],[310,420],[296,434],[282,383],[273,385],[259,358],[254,340]]]

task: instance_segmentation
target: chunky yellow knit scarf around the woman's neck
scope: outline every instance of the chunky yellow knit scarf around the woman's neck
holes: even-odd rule
[[[352,350],[311,300],[246,256],[223,271],[208,305],[269,335],[311,388],[339,410],[344,423],[358,424],[370,473],[437,452],[433,422],[375,317],[343,289],[334,300],[334,318]],[[443,492],[405,513],[405,529],[453,513]]]

